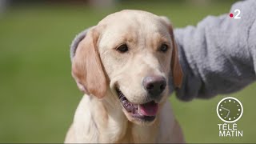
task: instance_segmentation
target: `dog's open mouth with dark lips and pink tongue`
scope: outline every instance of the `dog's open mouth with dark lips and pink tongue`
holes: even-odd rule
[[[142,121],[151,122],[157,115],[158,104],[154,101],[146,102],[143,104],[134,104],[129,102],[121,90],[116,90],[118,93],[118,98],[122,103],[122,107],[134,118]]]

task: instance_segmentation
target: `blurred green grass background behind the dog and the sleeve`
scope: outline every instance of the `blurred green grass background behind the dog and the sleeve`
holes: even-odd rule
[[[196,25],[207,15],[229,13],[234,1],[118,1],[9,3],[0,13],[0,142],[63,142],[82,93],[70,74],[70,42],[107,14],[123,9],[166,15],[175,27]],[[170,101],[186,142],[256,142],[255,84],[210,100]],[[238,98],[242,138],[219,138],[218,101]]]

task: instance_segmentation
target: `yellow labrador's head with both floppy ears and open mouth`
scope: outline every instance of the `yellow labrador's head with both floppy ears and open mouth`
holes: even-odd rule
[[[122,10],[74,39],[72,74],[87,94],[103,98],[110,89],[131,122],[151,123],[170,94],[170,75],[181,86],[177,53],[167,18]]]

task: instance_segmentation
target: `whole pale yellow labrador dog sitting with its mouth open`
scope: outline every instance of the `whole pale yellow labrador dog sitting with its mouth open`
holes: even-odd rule
[[[66,143],[184,142],[168,101],[182,69],[170,22],[122,10],[79,34],[72,75],[83,96]]]

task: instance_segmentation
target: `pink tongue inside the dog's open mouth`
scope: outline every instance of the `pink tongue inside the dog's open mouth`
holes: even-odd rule
[[[142,105],[138,105],[139,114],[145,116],[155,116],[158,112],[158,104],[155,102],[147,102]]]

